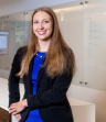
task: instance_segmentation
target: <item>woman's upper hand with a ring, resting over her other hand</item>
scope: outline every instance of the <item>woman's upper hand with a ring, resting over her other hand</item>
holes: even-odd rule
[[[9,113],[12,113],[13,115],[20,113],[28,107],[26,99],[12,103],[9,108]]]

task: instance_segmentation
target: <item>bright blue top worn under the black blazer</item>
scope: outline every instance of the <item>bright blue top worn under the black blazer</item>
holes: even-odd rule
[[[38,52],[34,56],[33,70],[32,70],[33,95],[36,95],[36,78],[45,55],[46,53]],[[39,109],[30,111],[25,122],[43,122],[40,117]]]

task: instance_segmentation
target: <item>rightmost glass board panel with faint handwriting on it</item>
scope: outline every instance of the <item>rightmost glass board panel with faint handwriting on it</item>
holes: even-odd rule
[[[84,4],[84,80],[106,91],[106,0]]]

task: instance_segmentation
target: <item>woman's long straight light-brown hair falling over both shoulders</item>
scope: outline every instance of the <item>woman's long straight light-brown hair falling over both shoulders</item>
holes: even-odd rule
[[[25,74],[29,74],[30,62],[33,55],[35,54],[35,52],[38,51],[38,46],[39,46],[38,37],[33,33],[33,16],[39,11],[44,11],[49,13],[53,20],[52,41],[50,43],[50,47],[46,53],[46,57],[42,67],[46,67],[46,74],[52,78],[55,77],[56,75],[62,75],[64,71],[67,71],[68,74],[73,74],[73,68],[74,68],[73,51],[65,43],[61,34],[59,22],[54,11],[49,7],[42,7],[36,9],[32,14],[31,33],[30,33],[30,40],[28,43],[28,49],[22,59],[21,70],[18,74],[18,76],[23,77]]]

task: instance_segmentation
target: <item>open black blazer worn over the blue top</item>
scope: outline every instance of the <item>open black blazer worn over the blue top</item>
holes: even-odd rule
[[[9,76],[9,107],[11,103],[20,100],[19,80],[15,76],[20,71],[22,56],[25,54],[23,48],[19,48],[12,63]],[[31,110],[39,109],[43,122],[73,122],[72,110],[66,98],[66,91],[70,87],[72,75],[66,73],[54,78],[46,75],[45,69],[41,68],[36,79],[36,95],[32,93],[32,58],[29,66],[29,75],[24,75],[24,96],[28,100],[28,108],[21,112],[20,122],[24,122]]]

